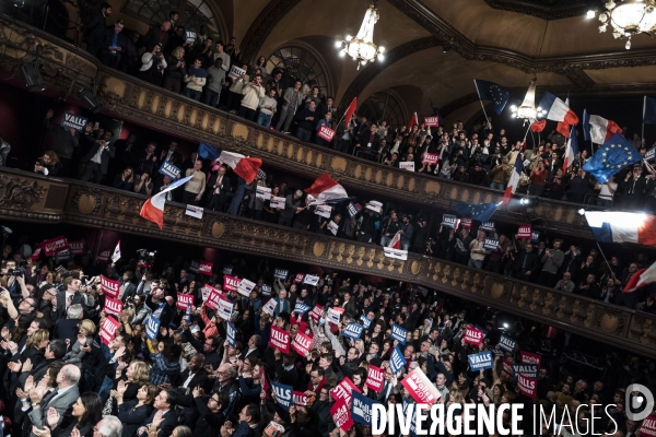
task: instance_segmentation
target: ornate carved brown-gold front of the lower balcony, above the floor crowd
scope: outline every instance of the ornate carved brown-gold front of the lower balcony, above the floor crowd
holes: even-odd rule
[[[0,182],[8,181],[12,190],[0,190],[5,221],[70,223],[402,281],[656,358],[656,317],[644,312],[417,253],[405,261],[387,258],[376,245],[213,211],[196,218],[179,203],[166,204],[160,229],[140,217],[147,199],[141,194],[0,169]],[[22,193],[34,201],[16,203]]]

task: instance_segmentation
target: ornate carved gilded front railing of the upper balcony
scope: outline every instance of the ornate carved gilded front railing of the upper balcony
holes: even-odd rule
[[[259,156],[267,165],[309,178],[328,172],[344,187],[366,190],[372,197],[384,196],[447,211],[457,201],[499,202],[503,196],[489,188],[409,173],[301,142],[106,68],[75,46],[24,23],[0,17],[0,71],[14,73],[21,62],[37,55],[50,90],[69,95],[71,88],[90,86],[95,81],[106,113],[175,137]],[[501,208],[495,218],[526,224],[529,218],[540,217],[558,223],[558,232],[562,234],[591,238],[578,208],[540,199],[530,217],[517,208]]]

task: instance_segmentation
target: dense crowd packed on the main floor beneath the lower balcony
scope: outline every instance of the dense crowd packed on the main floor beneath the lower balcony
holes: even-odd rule
[[[561,422],[561,427],[574,422],[584,426],[595,406],[614,404],[602,421],[594,422],[594,430],[628,437],[641,424],[626,417],[624,400],[634,393],[623,388],[655,382],[648,361],[608,349],[601,358],[607,371],[598,379],[590,371],[569,373],[557,358],[562,345],[553,346],[553,354],[541,349],[547,327],[518,320],[506,329],[494,312],[467,314],[464,303],[445,304],[436,293],[412,285],[385,288],[340,280],[338,273],[308,285],[289,270],[281,277],[268,260],[233,262],[230,274],[256,284],[243,294],[223,287],[223,274],[195,273],[181,257],[153,268],[138,259],[95,263],[87,253],[59,261],[43,253],[33,257],[34,248],[25,241],[20,239],[17,250],[4,248],[0,271],[5,435],[371,435],[363,424],[336,428],[335,388],[348,378],[358,391],[385,405],[414,402],[400,381],[420,368],[445,405],[524,404],[519,428],[525,435],[535,435],[534,404],[555,409],[558,417],[569,411],[572,422]],[[108,305],[101,273],[119,282],[115,300],[122,308]],[[232,312],[211,309],[208,286],[222,291],[234,305]],[[177,303],[185,296],[191,296],[192,306],[180,308]],[[298,311],[298,304],[318,305],[318,317]],[[339,321],[330,319],[331,309],[341,312]],[[108,333],[106,319],[113,320],[114,333]],[[149,332],[152,319],[159,329]],[[342,335],[350,323],[365,321],[368,328],[359,338]],[[407,331],[405,341],[393,335],[395,327]],[[485,332],[480,345],[465,341],[471,327]],[[272,329],[289,332],[291,339],[301,332],[312,344],[305,353],[282,353],[272,346]],[[504,352],[501,334],[517,345]],[[406,364],[393,371],[397,347]],[[468,355],[488,350],[494,353],[493,368],[472,371]],[[519,363],[524,352],[541,355],[535,398],[520,392],[506,367]],[[370,366],[385,371],[379,390],[367,388]],[[304,400],[284,406],[272,383],[292,386]],[[519,418],[504,417],[508,428]],[[538,435],[552,433],[542,429]]]

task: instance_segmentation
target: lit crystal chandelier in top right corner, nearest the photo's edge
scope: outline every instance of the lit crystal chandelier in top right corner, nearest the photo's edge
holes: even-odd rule
[[[604,33],[610,24],[612,36],[626,37],[626,50],[631,48],[631,37],[641,33],[648,33],[656,27],[655,0],[609,0],[605,4],[607,11],[599,14],[599,32]]]

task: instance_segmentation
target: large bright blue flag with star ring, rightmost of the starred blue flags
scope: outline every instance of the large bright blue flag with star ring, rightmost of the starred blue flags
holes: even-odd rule
[[[617,132],[585,163],[583,169],[593,174],[599,184],[606,184],[622,167],[642,160],[635,147]]]

